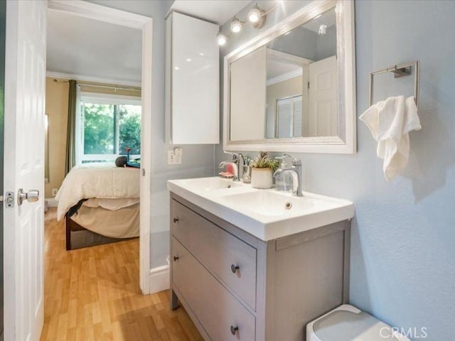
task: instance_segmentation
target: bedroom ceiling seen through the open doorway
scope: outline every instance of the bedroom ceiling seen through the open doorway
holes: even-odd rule
[[[48,10],[48,72],[141,82],[141,31]]]

